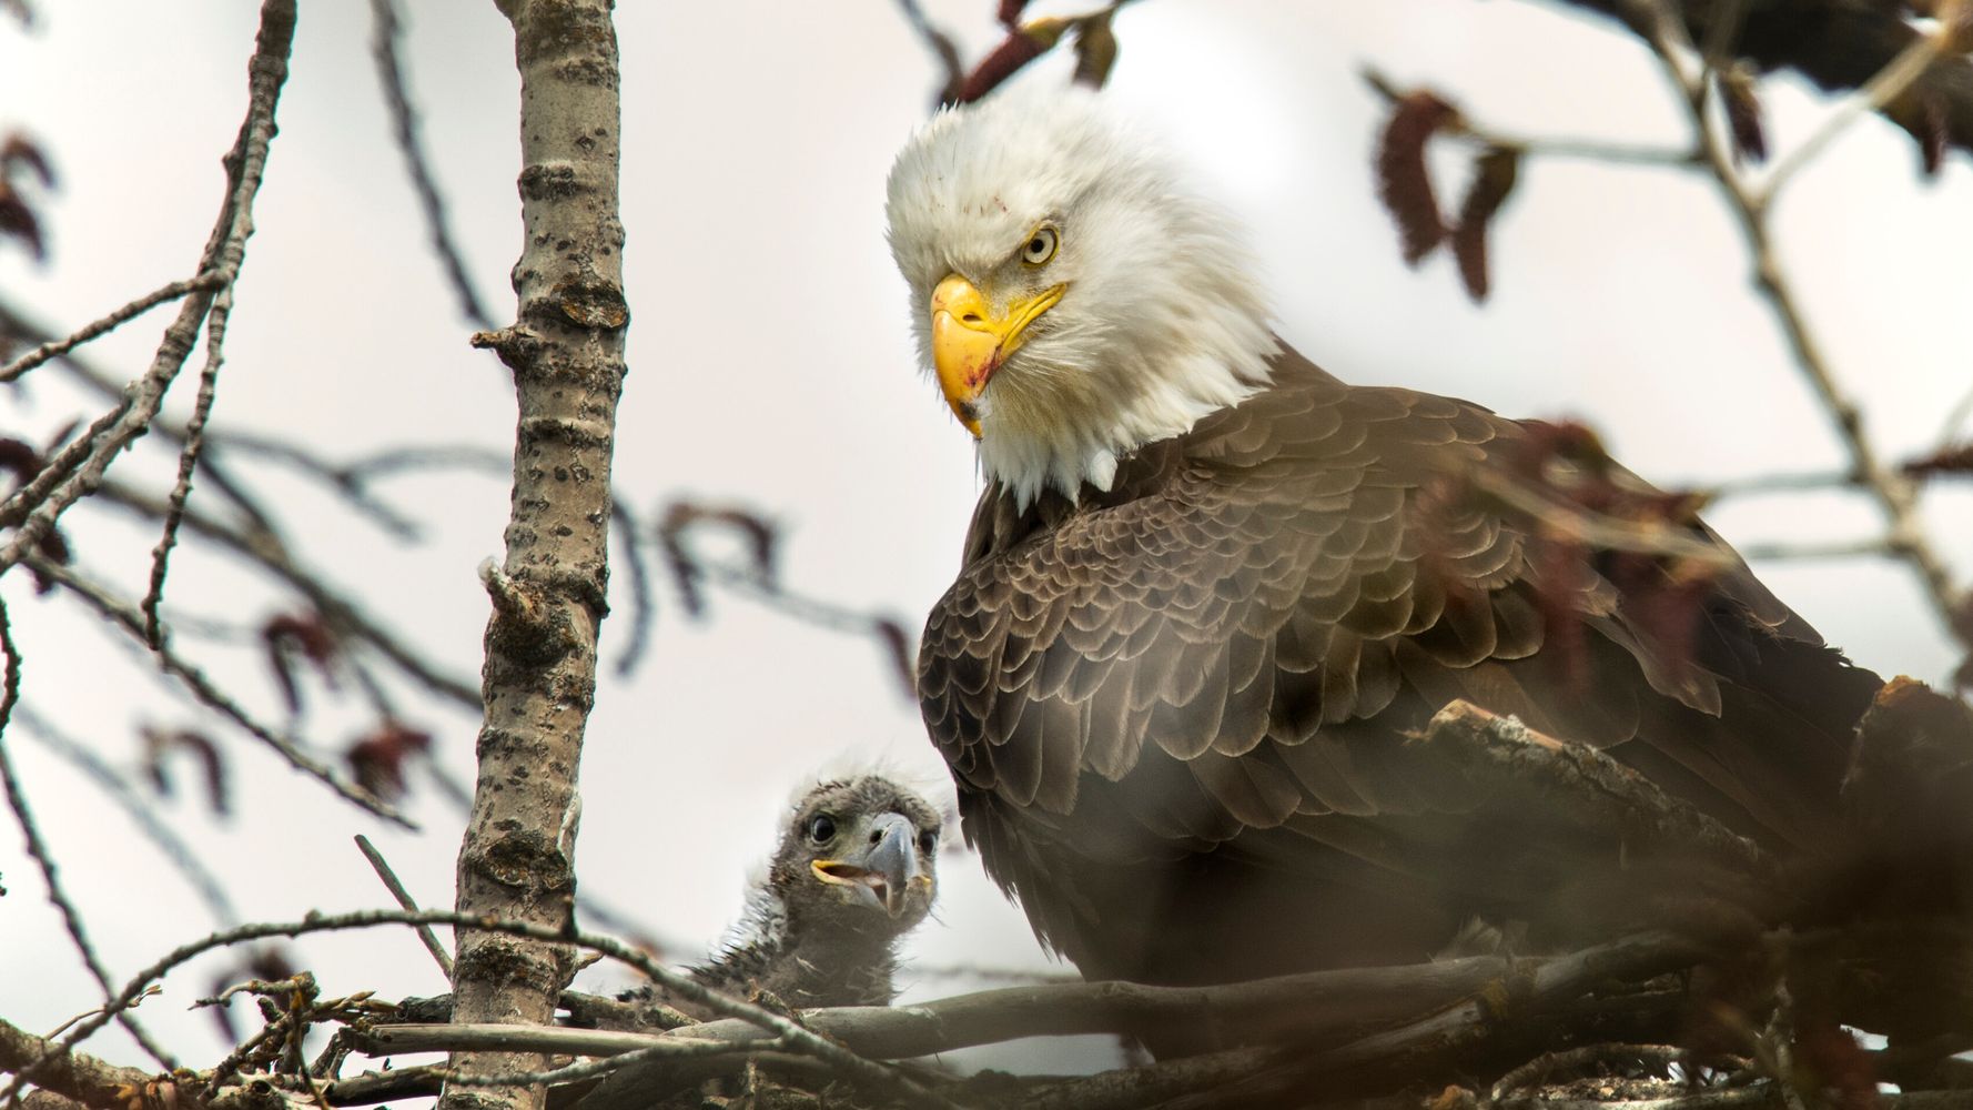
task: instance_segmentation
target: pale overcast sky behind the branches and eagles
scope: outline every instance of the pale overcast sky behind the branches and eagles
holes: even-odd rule
[[[0,22],[0,132],[34,134],[61,174],[41,203],[51,257],[0,245],[0,296],[65,332],[185,277],[219,203],[219,154],[245,103],[255,4],[41,0],[24,34]],[[517,77],[505,22],[485,0],[416,0],[404,59],[424,138],[452,201],[474,282],[497,318],[519,251]],[[990,0],[927,4],[969,55],[996,38]],[[1036,12],[1077,10],[1038,4]],[[633,314],[618,446],[620,494],[645,512],[691,494],[756,506],[787,537],[789,585],[917,626],[957,569],[977,496],[971,446],[908,346],[904,284],[882,233],[884,174],[925,115],[935,75],[896,6],[880,0],[722,0],[618,6],[623,53],[623,223]],[[389,138],[365,4],[302,4],[292,77],[256,207],[215,419],[345,458],[408,442],[507,450],[507,375],[468,350]],[[1456,393],[1509,415],[1582,417],[1661,484],[1841,462],[1827,421],[1752,294],[1742,243],[1701,176],[1537,160],[1494,233],[1496,292],[1468,304],[1444,259],[1403,267],[1377,209],[1369,152],[1375,65],[1428,81],[1515,134],[1675,146],[1681,115],[1628,36],[1537,2],[1156,0],[1117,22],[1111,95],[1170,132],[1247,219],[1277,290],[1282,336],[1352,381]],[[1060,81],[1040,67],[1036,81]],[[1764,85],[1770,144],[1786,150],[1831,103],[1791,79]],[[1450,160],[1446,174],[1458,174]],[[1778,211],[1784,265],[1843,381],[1892,456],[1939,436],[1969,387],[1973,278],[1967,160],[1916,176],[1910,140],[1864,120]],[[146,318],[89,348],[120,375],[156,346]],[[189,387],[174,397],[183,413]],[[93,413],[43,369],[0,401],[0,433],[32,436]],[[118,472],[164,488],[152,446]],[[389,496],[428,525],[402,549],[306,482],[262,486],[288,512],[304,559],[351,589],[452,672],[474,681],[485,600],[474,565],[495,555],[503,480],[404,480]],[[1936,539],[1973,567],[1973,500],[1934,494]],[[1726,502],[1736,543],[1863,537],[1872,510],[1849,494]],[[83,563],[132,593],[154,535],[73,514]],[[1955,656],[1910,575],[1878,561],[1758,567],[1776,591],[1866,666],[1943,677]],[[618,577],[618,587],[623,577]],[[144,660],[12,575],[6,600],[28,697],[105,758],[134,766],[140,723],[211,727],[178,707]],[[170,600],[256,622],[282,596],[237,563],[180,555]],[[627,612],[621,591],[618,610]],[[588,891],[665,936],[712,942],[767,853],[791,790],[819,770],[882,762],[947,802],[951,788],[915,707],[870,644],[714,595],[691,624],[661,591],[657,644],[631,679],[608,677],[582,766],[580,873]],[[606,626],[606,658],[627,626]],[[253,646],[187,640],[280,717]],[[477,721],[420,703],[440,758],[472,772]],[[310,689],[300,733],[333,753],[367,719],[343,691]],[[245,918],[385,905],[349,835],[369,832],[428,905],[452,897],[460,818],[430,790],[422,833],[359,822],[225,729],[235,814],[195,790],[162,802]],[[10,729],[34,804],[116,976],[207,932],[183,881],[93,786]],[[195,778],[182,768],[182,786]],[[0,833],[0,1015],[47,1029],[93,1003],[18,835]],[[913,940],[910,995],[967,986],[949,964],[1042,966],[1020,912],[971,855],[947,855],[939,920]],[[444,990],[408,934],[310,938],[326,991]],[[185,1005],[219,964],[174,978],[142,1015],[195,1063],[217,1055]],[[600,982],[600,980],[598,980]],[[132,1049],[105,1035],[116,1059]],[[1006,1063],[1002,1059],[1002,1063]],[[1034,1049],[1028,1067],[1067,1067]]]

